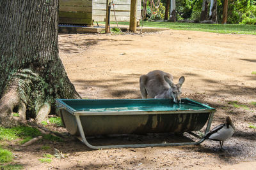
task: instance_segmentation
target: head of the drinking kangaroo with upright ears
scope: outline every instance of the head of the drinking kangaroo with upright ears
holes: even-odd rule
[[[185,81],[184,76],[181,76],[179,79],[179,83],[177,83],[176,85],[173,83],[172,80],[170,80],[170,78],[168,78],[168,76],[164,76],[164,80],[170,85],[170,89],[169,89],[169,93],[170,93],[170,97],[173,98],[173,101],[175,103],[180,102],[180,95],[181,95],[181,86]]]

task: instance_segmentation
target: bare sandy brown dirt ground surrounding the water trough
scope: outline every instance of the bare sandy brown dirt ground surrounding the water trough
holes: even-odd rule
[[[41,141],[14,152],[15,162],[26,169],[255,169],[256,130],[249,125],[256,125],[256,36],[175,30],[61,34],[59,46],[68,77],[83,98],[140,98],[140,75],[160,69],[172,74],[175,83],[185,76],[182,97],[216,108],[212,127],[229,115],[236,132],[225,141],[223,152],[216,141],[108,150],[90,150],[72,137],[63,143]],[[239,106],[230,104],[235,101]],[[38,160],[45,153],[53,155],[54,148],[65,158]]]

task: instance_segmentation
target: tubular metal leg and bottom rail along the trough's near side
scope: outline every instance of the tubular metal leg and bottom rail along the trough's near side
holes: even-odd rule
[[[211,112],[209,115],[207,127],[205,129],[205,133],[209,131],[212,123],[214,112]],[[88,141],[85,138],[83,126],[81,124],[81,120],[79,115],[76,115],[76,121],[77,126],[79,129],[79,132],[82,137],[82,142],[88,146],[89,148],[92,148],[93,150],[99,150],[99,149],[108,149],[108,148],[145,148],[145,147],[153,147],[153,146],[184,146],[184,145],[200,145],[204,141],[204,139],[200,139],[199,141],[195,142],[188,142],[188,143],[149,143],[149,144],[131,144],[131,145],[104,145],[104,146],[93,146],[88,143]]]

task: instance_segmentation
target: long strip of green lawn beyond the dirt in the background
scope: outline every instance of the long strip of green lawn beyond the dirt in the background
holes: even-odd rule
[[[104,23],[104,22],[102,22]],[[115,24],[115,22],[111,22]],[[129,25],[129,22],[118,22],[118,24]],[[192,30],[204,32],[216,32],[221,34],[252,34],[256,35],[256,25],[242,24],[195,24],[180,22],[143,22],[143,27],[161,27],[178,30]]]

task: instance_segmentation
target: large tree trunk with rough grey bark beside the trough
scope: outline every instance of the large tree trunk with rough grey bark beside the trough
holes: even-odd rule
[[[56,98],[79,98],[58,55],[58,1],[1,0],[0,32],[0,125],[41,122]]]

